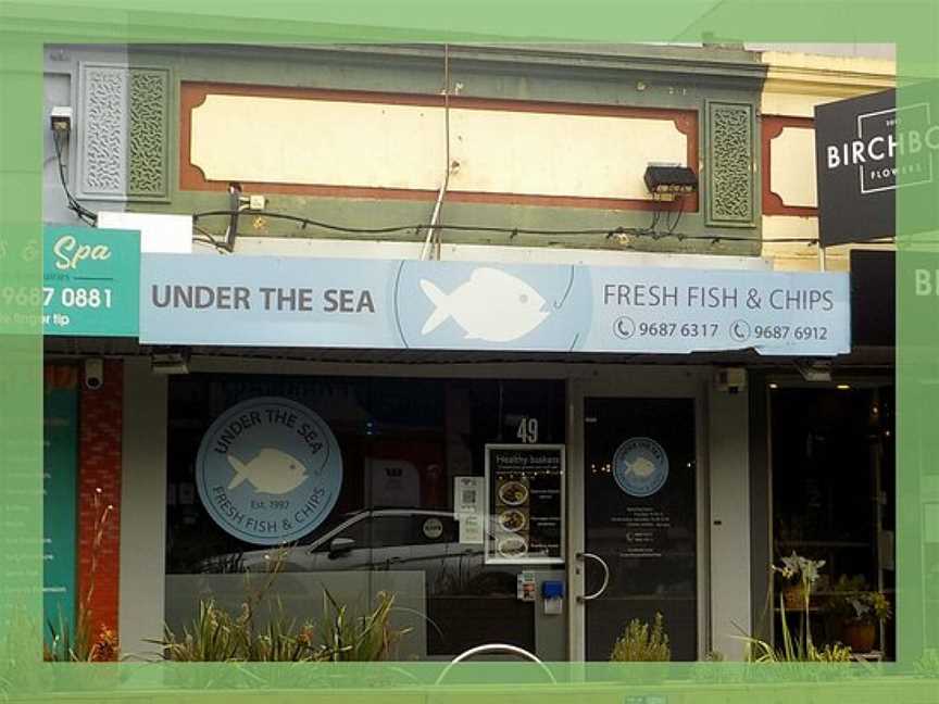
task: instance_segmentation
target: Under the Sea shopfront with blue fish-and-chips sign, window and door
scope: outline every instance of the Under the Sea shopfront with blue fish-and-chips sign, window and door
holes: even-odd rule
[[[139,259],[137,339],[50,345],[123,387],[125,654],[209,600],[384,598],[401,659],[605,661],[656,614],[672,659],[738,656],[748,368],[848,351],[846,275]]]

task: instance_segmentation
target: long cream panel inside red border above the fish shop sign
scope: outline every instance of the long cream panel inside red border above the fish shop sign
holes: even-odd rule
[[[442,108],[210,95],[191,162],[212,180],[436,190]],[[576,135],[577,138],[573,138]],[[451,190],[648,199],[649,162],[687,162],[667,120],[450,111]]]

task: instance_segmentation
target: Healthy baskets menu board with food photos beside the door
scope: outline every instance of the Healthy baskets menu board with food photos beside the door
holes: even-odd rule
[[[486,564],[564,562],[564,445],[486,445]]]

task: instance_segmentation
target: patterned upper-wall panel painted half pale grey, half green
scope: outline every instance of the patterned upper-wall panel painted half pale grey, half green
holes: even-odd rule
[[[82,64],[78,86],[78,196],[166,200],[168,71]]]

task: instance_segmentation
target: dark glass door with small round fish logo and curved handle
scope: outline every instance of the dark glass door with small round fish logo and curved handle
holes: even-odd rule
[[[606,661],[634,618],[663,617],[673,661],[698,655],[698,492],[692,398],[586,397],[585,655]]]

